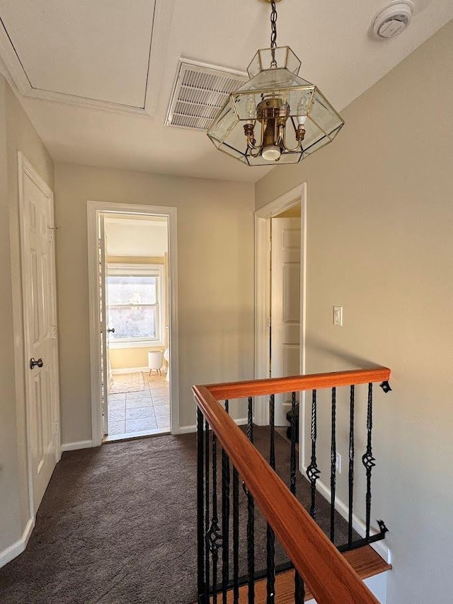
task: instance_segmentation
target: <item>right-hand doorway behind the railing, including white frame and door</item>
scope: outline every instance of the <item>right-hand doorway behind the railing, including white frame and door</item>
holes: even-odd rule
[[[305,372],[306,185],[255,213],[255,377]],[[278,400],[278,402],[277,402]],[[288,426],[290,405],[275,397],[276,425]],[[300,404],[299,434],[304,434]],[[269,423],[268,401],[256,405],[255,421]],[[299,448],[299,451],[302,447]]]

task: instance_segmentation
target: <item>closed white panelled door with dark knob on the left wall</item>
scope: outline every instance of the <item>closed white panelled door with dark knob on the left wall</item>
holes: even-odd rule
[[[25,395],[34,511],[59,459],[53,195],[19,156]]]

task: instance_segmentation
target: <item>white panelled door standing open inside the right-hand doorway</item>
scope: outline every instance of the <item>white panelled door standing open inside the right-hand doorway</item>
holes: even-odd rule
[[[271,221],[270,375],[300,373],[300,218]],[[298,394],[297,394],[298,397]],[[275,395],[275,425],[287,426],[291,396]]]

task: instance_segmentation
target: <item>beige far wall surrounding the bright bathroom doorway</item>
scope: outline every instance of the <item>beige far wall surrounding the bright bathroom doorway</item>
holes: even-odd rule
[[[57,164],[63,442],[91,439],[86,202],[178,208],[180,425],[190,387],[253,376],[253,185]]]

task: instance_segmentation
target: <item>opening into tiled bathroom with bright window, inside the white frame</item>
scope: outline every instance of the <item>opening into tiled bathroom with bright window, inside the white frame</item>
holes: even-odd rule
[[[107,364],[103,440],[168,434],[168,219],[100,213],[99,220]]]

